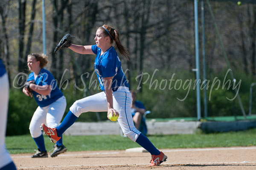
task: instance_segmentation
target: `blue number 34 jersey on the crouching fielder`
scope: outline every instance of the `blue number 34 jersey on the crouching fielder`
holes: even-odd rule
[[[58,88],[57,82],[54,79],[52,73],[50,73],[48,70],[41,69],[37,78],[35,78],[34,72],[30,73],[27,81],[31,81],[31,80],[35,80],[35,84],[37,84],[38,86],[43,86],[43,85],[52,86],[52,90],[49,93],[49,95],[41,95],[35,92],[34,90],[32,90],[33,96],[38,106],[46,107],[63,96],[63,93]]]

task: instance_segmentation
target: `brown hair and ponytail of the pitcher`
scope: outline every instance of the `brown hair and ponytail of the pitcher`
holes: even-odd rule
[[[102,28],[104,27],[104,28]],[[116,42],[115,46],[117,46],[118,51],[121,53],[121,55],[123,55],[127,60],[129,60],[129,52],[127,51],[127,48],[125,48],[122,43],[120,42],[120,34],[119,31],[117,31],[116,29],[113,29],[111,26],[108,26],[106,24],[104,24],[102,27],[99,27],[99,29],[102,29],[103,34],[108,37],[110,36],[110,42],[111,44],[113,44],[113,40]],[[114,46],[114,47],[115,47]]]

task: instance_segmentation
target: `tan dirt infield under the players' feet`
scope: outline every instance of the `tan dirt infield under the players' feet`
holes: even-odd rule
[[[55,158],[12,154],[18,170],[255,170],[256,147],[163,149],[167,161],[148,167],[149,153],[124,150],[66,152]],[[48,153],[49,154],[49,153]]]

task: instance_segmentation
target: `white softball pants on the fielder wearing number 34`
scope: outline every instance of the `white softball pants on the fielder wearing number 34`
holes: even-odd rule
[[[51,128],[58,127],[64,115],[66,106],[67,102],[65,96],[62,96],[46,107],[38,106],[29,125],[32,138],[41,136],[42,132],[40,126],[42,123]]]

